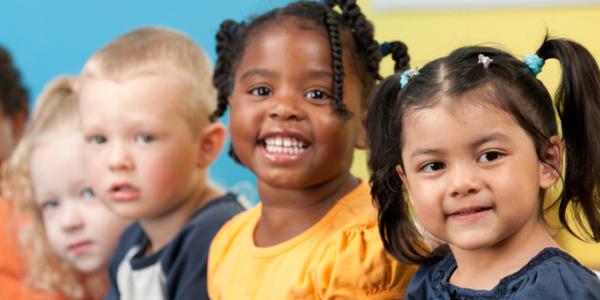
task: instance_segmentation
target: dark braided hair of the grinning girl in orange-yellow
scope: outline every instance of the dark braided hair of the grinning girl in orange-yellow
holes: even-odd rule
[[[334,7],[341,9],[341,14],[333,10]],[[333,69],[333,100],[332,106],[342,118],[350,118],[351,112],[343,102],[344,91],[344,68],[343,47],[347,47],[353,61],[356,63],[358,76],[363,85],[362,103],[368,107],[368,102],[375,90],[376,81],[381,79],[379,75],[379,63],[382,58],[379,43],[374,38],[374,30],[371,22],[361,12],[356,0],[326,0],[324,4],[311,1],[298,1],[285,7],[273,9],[267,13],[254,17],[248,24],[225,20],[221,23],[216,35],[217,39],[217,62],[213,75],[213,84],[217,89],[217,109],[210,116],[211,121],[223,116],[227,110],[228,97],[233,90],[235,72],[245,52],[249,41],[260,34],[269,25],[281,22],[284,18],[297,17],[320,24],[329,37],[331,45],[331,58]],[[343,32],[351,32],[352,40],[342,39]],[[396,52],[407,67],[408,55],[406,46],[397,42],[397,49],[404,52]],[[237,162],[239,160],[229,150],[229,155]]]

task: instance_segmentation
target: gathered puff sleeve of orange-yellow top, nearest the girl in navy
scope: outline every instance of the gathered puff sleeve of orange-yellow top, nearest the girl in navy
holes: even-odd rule
[[[317,260],[316,281],[334,294],[350,292],[350,298],[404,295],[415,267],[398,262],[385,250],[368,189],[358,192],[340,201],[343,207],[331,220],[331,238]]]

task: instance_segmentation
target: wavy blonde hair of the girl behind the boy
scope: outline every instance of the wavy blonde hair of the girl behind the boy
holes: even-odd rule
[[[70,299],[84,299],[86,293],[80,273],[58,258],[50,247],[42,213],[35,201],[29,164],[32,151],[48,136],[78,128],[75,82],[74,78],[58,77],[42,91],[31,122],[4,166],[2,192],[16,204],[16,218],[26,220],[19,228],[19,240],[25,252],[28,284]]]

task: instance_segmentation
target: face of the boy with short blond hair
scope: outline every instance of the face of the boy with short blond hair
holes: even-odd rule
[[[84,80],[80,114],[88,175],[117,214],[159,218],[194,197],[198,138],[184,117],[185,85],[141,75]]]

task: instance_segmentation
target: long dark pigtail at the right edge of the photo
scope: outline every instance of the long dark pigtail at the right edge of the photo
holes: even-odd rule
[[[567,230],[566,212],[573,205],[576,224],[600,241],[600,71],[590,52],[566,39],[548,39],[537,51],[543,59],[555,58],[562,66],[556,108],[562,123],[566,152],[564,189],[559,218]],[[588,227],[581,213],[585,215]]]

